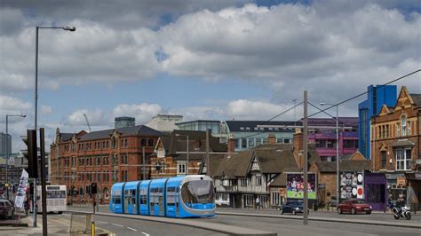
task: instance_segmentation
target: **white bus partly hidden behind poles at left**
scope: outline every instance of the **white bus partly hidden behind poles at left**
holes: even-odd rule
[[[47,193],[47,213],[58,212],[61,214],[68,209],[66,185],[47,185],[45,192]],[[36,186],[36,207],[38,208],[37,212],[43,212],[40,185]]]

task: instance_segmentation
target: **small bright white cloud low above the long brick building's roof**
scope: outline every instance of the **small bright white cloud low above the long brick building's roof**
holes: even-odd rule
[[[162,107],[158,104],[121,104],[115,106],[112,114],[114,121],[118,116],[135,117],[137,124],[145,124],[150,121],[151,117],[162,112]]]

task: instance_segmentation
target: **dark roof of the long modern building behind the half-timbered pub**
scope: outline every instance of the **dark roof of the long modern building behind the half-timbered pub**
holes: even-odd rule
[[[226,125],[231,132],[256,132],[268,131],[268,128],[258,129],[258,125],[302,125],[302,122],[267,122],[267,121],[226,121]],[[258,130],[256,130],[256,129]],[[278,128],[271,132],[293,132],[292,128]]]

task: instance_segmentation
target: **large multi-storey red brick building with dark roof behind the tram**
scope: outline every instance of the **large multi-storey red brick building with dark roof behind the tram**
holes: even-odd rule
[[[51,145],[52,185],[67,185],[68,201],[91,202],[88,186],[97,183],[98,200],[107,203],[115,182],[142,179],[143,154],[148,163],[161,135],[144,125],[75,134],[57,129]],[[146,173],[149,178],[149,168]]]

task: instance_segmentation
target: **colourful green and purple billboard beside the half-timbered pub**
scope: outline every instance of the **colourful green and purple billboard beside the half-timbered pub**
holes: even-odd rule
[[[304,199],[304,174],[286,173],[287,199]],[[317,199],[316,177],[308,173],[308,199]]]

